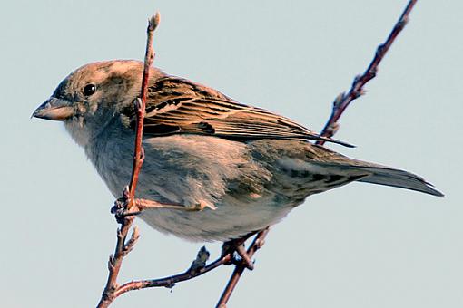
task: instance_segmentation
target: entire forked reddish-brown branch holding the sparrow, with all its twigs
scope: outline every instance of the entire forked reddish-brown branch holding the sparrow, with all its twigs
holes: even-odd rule
[[[338,120],[340,116],[350,105],[350,102],[359,98],[364,94],[363,86],[373,79],[376,76],[378,71],[378,66],[384,55],[389,51],[389,47],[395,41],[396,37],[403,30],[407,22],[409,21],[409,14],[416,4],[417,0],[410,0],[409,4],[405,8],[404,12],[400,15],[399,21],[394,25],[391,33],[389,34],[388,39],[385,43],[379,45],[375,56],[367,70],[360,76],[357,76],[352,82],[350,91],[341,93],[336,100],[333,102],[333,108],[331,111],[330,119],[327,121],[323,130],[321,130],[320,135],[324,137],[332,137],[336,131],[339,129]],[[148,80],[149,80],[149,69],[153,63],[154,52],[153,52],[153,32],[157,25],[159,24],[159,14],[156,14],[150,19],[148,29],[147,29],[147,42],[146,42],[146,53],[144,58],[144,70],[143,70],[143,82],[142,82],[142,91],[141,99],[135,101],[136,104],[136,115],[137,115],[137,126],[136,126],[136,139],[135,139],[135,149],[133,155],[133,170],[130,186],[124,189],[122,201],[116,201],[116,217],[118,211],[123,210],[123,213],[129,212],[129,214],[137,213],[141,208],[137,208],[137,203],[135,199],[135,189],[138,182],[138,176],[143,165],[144,152],[142,147],[142,137],[143,137],[143,118],[145,113],[145,104],[146,104],[146,93],[148,89]],[[318,145],[323,145],[324,140],[319,140],[316,142]],[[131,211],[129,211],[133,208]],[[244,273],[244,270],[247,268],[244,262],[233,262],[236,261],[233,258],[232,253],[227,253],[222,255],[209,265],[206,265],[206,262],[209,258],[209,252],[202,247],[199,251],[196,259],[192,262],[192,265],[182,274],[175,274],[169,277],[164,277],[160,279],[153,280],[140,280],[132,281],[123,285],[118,285],[116,280],[119,274],[119,270],[122,265],[123,257],[127,255],[135,245],[139,235],[138,229],[133,228],[133,234],[131,238],[126,241],[130,227],[132,226],[134,216],[131,215],[121,215],[119,216],[118,222],[121,224],[121,227],[117,232],[117,244],[115,248],[114,255],[110,256],[108,262],[109,275],[108,281],[103,291],[102,299],[98,304],[99,308],[108,307],[113,300],[121,294],[132,290],[139,290],[143,288],[150,287],[173,287],[174,284],[190,280],[194,277],[197,277],[202,274],[206,274],[220,265],[227,265],[230,263],[235,264],[235,269],[233,270],[232,276],[226,285],[217,307],[224,308],[226,303],[230,299],[232,292],[240,281],[241,274]],[[247,250],[248,256],[251,258],[257,250],[261,248],[264,244],[265,237],[269,233],[269,228],[259,232],[252,241],[251,245]]]

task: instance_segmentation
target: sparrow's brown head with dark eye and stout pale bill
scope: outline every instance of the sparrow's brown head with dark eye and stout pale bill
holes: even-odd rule
[[[139,96],[143,63],[130,60],[89,63],[61,82],[33,117],[64,121],[74,140],[85,146]],[[161,72],[153,69],[152,78]]]

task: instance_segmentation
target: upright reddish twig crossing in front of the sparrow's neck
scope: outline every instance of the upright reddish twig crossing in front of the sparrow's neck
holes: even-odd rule
[[[147,40],[146,40],[146,53],[144,56],[144,68],[143,68],[143,82],[141,89],[141,99],[136,99],[136,120],[137,125],[135,129],[135,146],[133,154],[133,168],[132,168],[132,178],[128,188],[125,188],[123,191],[123,201],[116,201],[116,212],[117,209],[122,209],[123,211],[130,210],[131,207],[134,207],[134,197],[135,189],[138,182],[138,176],[143,165],[144,151],[142,147],[142,137],[143,137],[143,118],[145,113],[146,105],[146,93],[148,91],[148,80],[150,77],[150,67],[153,64],[154,51],[153,51],[153,32],[159,24],[159,14],[152,16],[148,23]],[[117,213],[116,213],[117,217]],[[102,298],[100,303],[98,303],[98,308],[108,307],[113,300],[118,296],[118,290],[120,286],[117,284],[117,276],[121,265],[123,262],[123,257],[127,255],[135,245],[139,234],[136,227],[133,228],[133,233],[129,241],[126,242],[127,235],[129,233],[130,227],[133,224],[133,216],[120,216],[117,217],[118,222],[121,224],[117,230],[117,242],[114,251],[114,255],[111,255],[108,262],[108,280],[106,286],[104,287]]]

